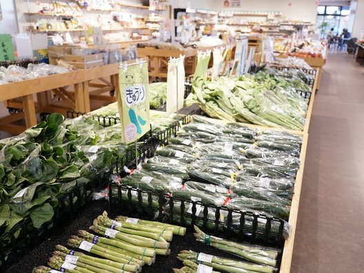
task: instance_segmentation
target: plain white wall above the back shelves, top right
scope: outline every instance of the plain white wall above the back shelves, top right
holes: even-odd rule
[[[241,8],[224,8],[223,0],[214,0],[213,9],[280,11],[283,17],[299,21],[315,21],[317,13],[315,0],[241,0]]]

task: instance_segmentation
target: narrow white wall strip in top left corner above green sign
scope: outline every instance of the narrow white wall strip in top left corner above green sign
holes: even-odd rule
[[[15,34],[18,32],[17,16],[14,1],[0,0],[3,20],[0,21],[0,33],[12,34],[12,43],[15,44]]]

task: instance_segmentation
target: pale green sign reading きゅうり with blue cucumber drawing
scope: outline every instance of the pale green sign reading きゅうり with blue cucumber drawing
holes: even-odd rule
[[[119,70],[119,88],[121,139],[123,143],[132,143],[150,130],[147,63],[123,65]]]

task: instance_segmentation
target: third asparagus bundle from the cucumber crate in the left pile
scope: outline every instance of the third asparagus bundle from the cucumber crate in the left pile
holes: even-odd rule
[[[117,230],[110,230],[110,229],[104,228],[101,225],[97,225],[96,219],[94,221],[94,225],[92,225],[90,227],[90,230],[92,230],[95,233],[101,234],[101,235],[109,236],[109,238],[112,239],[112,241],[115,241],[117,243],[123,243],[124,246],[122,248],[126,249],[126,250],[127,250],[127,248],[125,248],[125,245],[130,245],[130,246],[135,245],[138,247],[145,247],[146,250],[155,250],[156,254],[159,254],[159,255],[169,255],[170,254],[170,249],[168,248],[168,247],[170,247],[170,243],[160,242],[160,241],[155,241],[155,240],[152,240],[152,241],[143,240],[143,239],[139,240],[139,239],[133,238],[129,234],[118,232]],[[90,239],[90,238],[88,238],[88,239]]]

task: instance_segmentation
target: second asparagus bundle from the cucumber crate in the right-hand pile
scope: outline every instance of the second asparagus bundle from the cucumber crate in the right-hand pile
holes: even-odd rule
[[[254,263],[247,263],[244,261],[236,261],[232,259],[219,258],[203,253],[196,253],[192,250],[182,250],[178,255],[177,259],[180,261],[191,260],[198,261],[203,265],[208,265],[216,270],[230,273],[248,273],[248,272],[262,272],[262,273],[273,273],[275,269],[265,265],[257,265]]]

